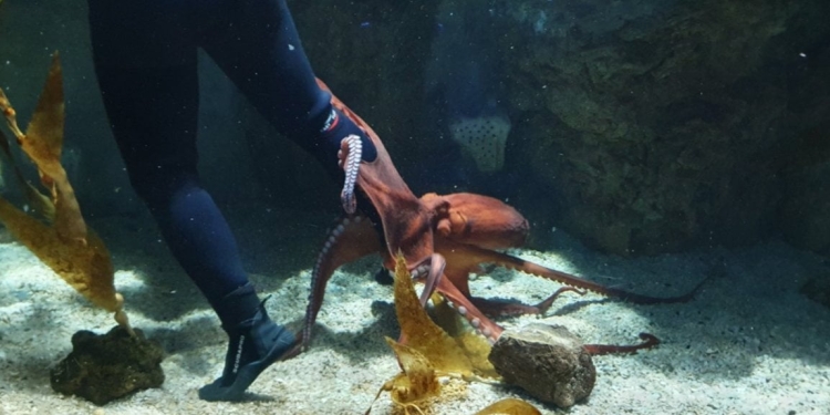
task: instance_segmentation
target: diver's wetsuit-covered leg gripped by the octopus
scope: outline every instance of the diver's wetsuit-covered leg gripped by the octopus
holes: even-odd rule
[[[205,50],[279,131],[313,154],[335,178],[340,142],[362,138],[363,159],[375,158],[365,133],[332,107],[314,79],[284,0],[235,0],[227,22],[200,29]]]

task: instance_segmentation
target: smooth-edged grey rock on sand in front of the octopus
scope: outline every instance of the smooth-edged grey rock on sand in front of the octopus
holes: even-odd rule
[[[582,341],[561,325],[531,323],[507,330],[489,360],[505,382],[563,408],[588,397],[596,381]]]

